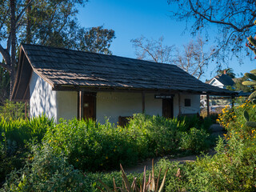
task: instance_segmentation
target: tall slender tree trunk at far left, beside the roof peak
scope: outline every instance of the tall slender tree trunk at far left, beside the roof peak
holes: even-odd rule
[[[10,38],[11,38],[11,50],[10,50],[10,97],[12,94],[14,81],[15,81],[15,56],[16,56],[16,0],[10,0]]]

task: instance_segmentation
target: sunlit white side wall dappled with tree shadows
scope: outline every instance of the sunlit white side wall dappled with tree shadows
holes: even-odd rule
[[[30,116],[36,117],[42,113],[57,119],[56,91],[33,71],[30,78]]]

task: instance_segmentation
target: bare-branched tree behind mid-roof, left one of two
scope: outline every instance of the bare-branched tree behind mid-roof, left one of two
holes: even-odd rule
[[[130,42],[135,48],[135,54],[138,59],[170,63],[173,61],[174,46],[163,45],[163,40],[163,37],[154,40],[153,38],[148,39],[141,36],[140,38],[131,39]]]

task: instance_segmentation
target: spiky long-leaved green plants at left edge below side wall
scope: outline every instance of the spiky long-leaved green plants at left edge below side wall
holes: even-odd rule
[[[11,170],[20,169],[25,164],[27,153],[26,142],[41,142],[52,120],[45,116],[26,119],[0,119],[0,186]]]

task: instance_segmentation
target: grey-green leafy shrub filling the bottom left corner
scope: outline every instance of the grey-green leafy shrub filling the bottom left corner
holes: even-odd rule
[[[47,144],[34,146],[32,152],[26,166],[9,175],[2,191],[91,191],[82,172]]]

